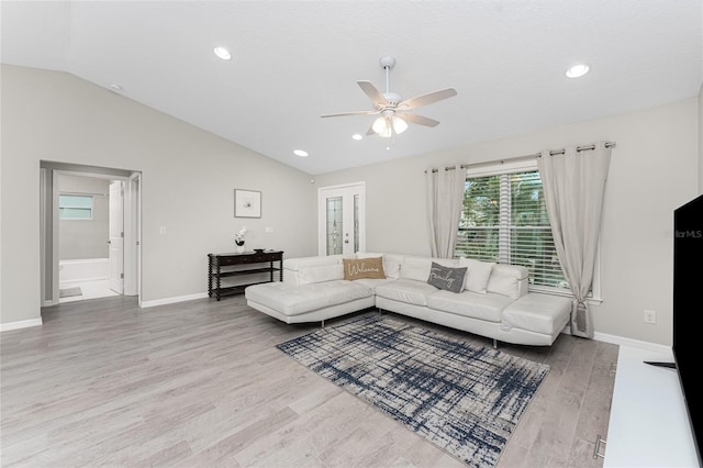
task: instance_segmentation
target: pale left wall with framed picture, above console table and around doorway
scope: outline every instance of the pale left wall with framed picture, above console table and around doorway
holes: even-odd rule
[[[242,225],[252,247],[316,252],[310,175],[68,74],[1,74],[0,325],[41,316],[40,160],[142,171],[145,301],[205,292]],[[234,218],[235,188],[263,192],[261,219]]]

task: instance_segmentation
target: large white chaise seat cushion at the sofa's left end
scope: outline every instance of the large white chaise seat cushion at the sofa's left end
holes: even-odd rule
[[[368,298],[368,286],[337,280],[293,286],[286,282],[267,282],[249,286],[244,290],[247,301],[258,302],[284,315],[298,315],[317,309]]]

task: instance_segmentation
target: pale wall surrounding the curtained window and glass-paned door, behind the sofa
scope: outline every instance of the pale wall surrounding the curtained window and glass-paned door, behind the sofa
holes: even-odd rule
[[[601,244],[604,301],[593,307],[593,323],[596,333],[670,345],[672,212],[699,191],[699,102],[693,98],[315,178],[321,187],[366,182],[369,252],[428,255],[425,168],[500,160],[573,144],[616,142]],[[657,311],[656,325],[643,322],[645,309]]]

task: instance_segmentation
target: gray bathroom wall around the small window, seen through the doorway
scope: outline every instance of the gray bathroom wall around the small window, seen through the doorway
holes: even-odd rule
[[[59,220],[58,259],[108,258],[110,180],[58,176],[60,193],[92,194],[92,220]]]

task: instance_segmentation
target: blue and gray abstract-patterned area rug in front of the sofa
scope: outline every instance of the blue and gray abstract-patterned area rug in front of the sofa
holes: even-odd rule
[[[549,366],[378,314],[277,345],[473,467],[493,467]]]

